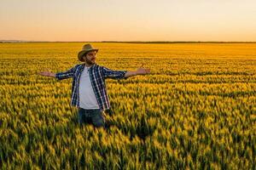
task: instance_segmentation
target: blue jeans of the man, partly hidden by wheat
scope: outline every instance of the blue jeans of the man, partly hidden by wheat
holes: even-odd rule
[[[79,125],[89,123],[95,127],[105,127],[105,119],[100,109],[85,110],[79,108],[78,121]]]

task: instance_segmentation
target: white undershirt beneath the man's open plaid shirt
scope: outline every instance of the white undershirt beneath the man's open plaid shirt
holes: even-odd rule
[[[96,100],[93,88],[90,82],[89,69],[84,65],[84,71],[82,71],[79,83],[79,102],[80,107],[83,109],[99,109],[99,105]]]

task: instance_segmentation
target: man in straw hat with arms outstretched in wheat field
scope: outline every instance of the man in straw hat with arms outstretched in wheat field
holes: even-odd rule
[[[68,71],[52,73],[39,72],[44,77],[55,77],[58,80],[73,78],[71,105],[79,108],[79,125],[92,123],[95,127],[106,127],[104,111],[110,110],[105,79],[123,79],[145,75],[149,69],[139,68],[137,71],[113,71],[96,64],[98,49],[85,44],[78,54],[83,64],[75,65]]]

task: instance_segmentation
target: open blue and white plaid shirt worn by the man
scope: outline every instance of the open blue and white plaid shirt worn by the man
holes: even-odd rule
[[[84,71],[84,64],[75,65],[68,71],[58,72],[55,77],[58,80],[73,78],[72,83],[72,95],[71,95],[71,105],[79,107],[79,80]],[[97,103],[101,109],[101,111],[105,111],[110,109],[108,94],[106,90],[106,82],[105,79],[113,78],[113,79],[122,79],[125,78],[125,73],[127,71],[112,71],[108,68],[100,65],[92,65],[89,69],[90,82],[96,95]]]

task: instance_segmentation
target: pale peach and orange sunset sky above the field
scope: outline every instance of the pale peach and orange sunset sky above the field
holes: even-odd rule
[[[256,41],[255,0],[0,0],[0,40]]]

